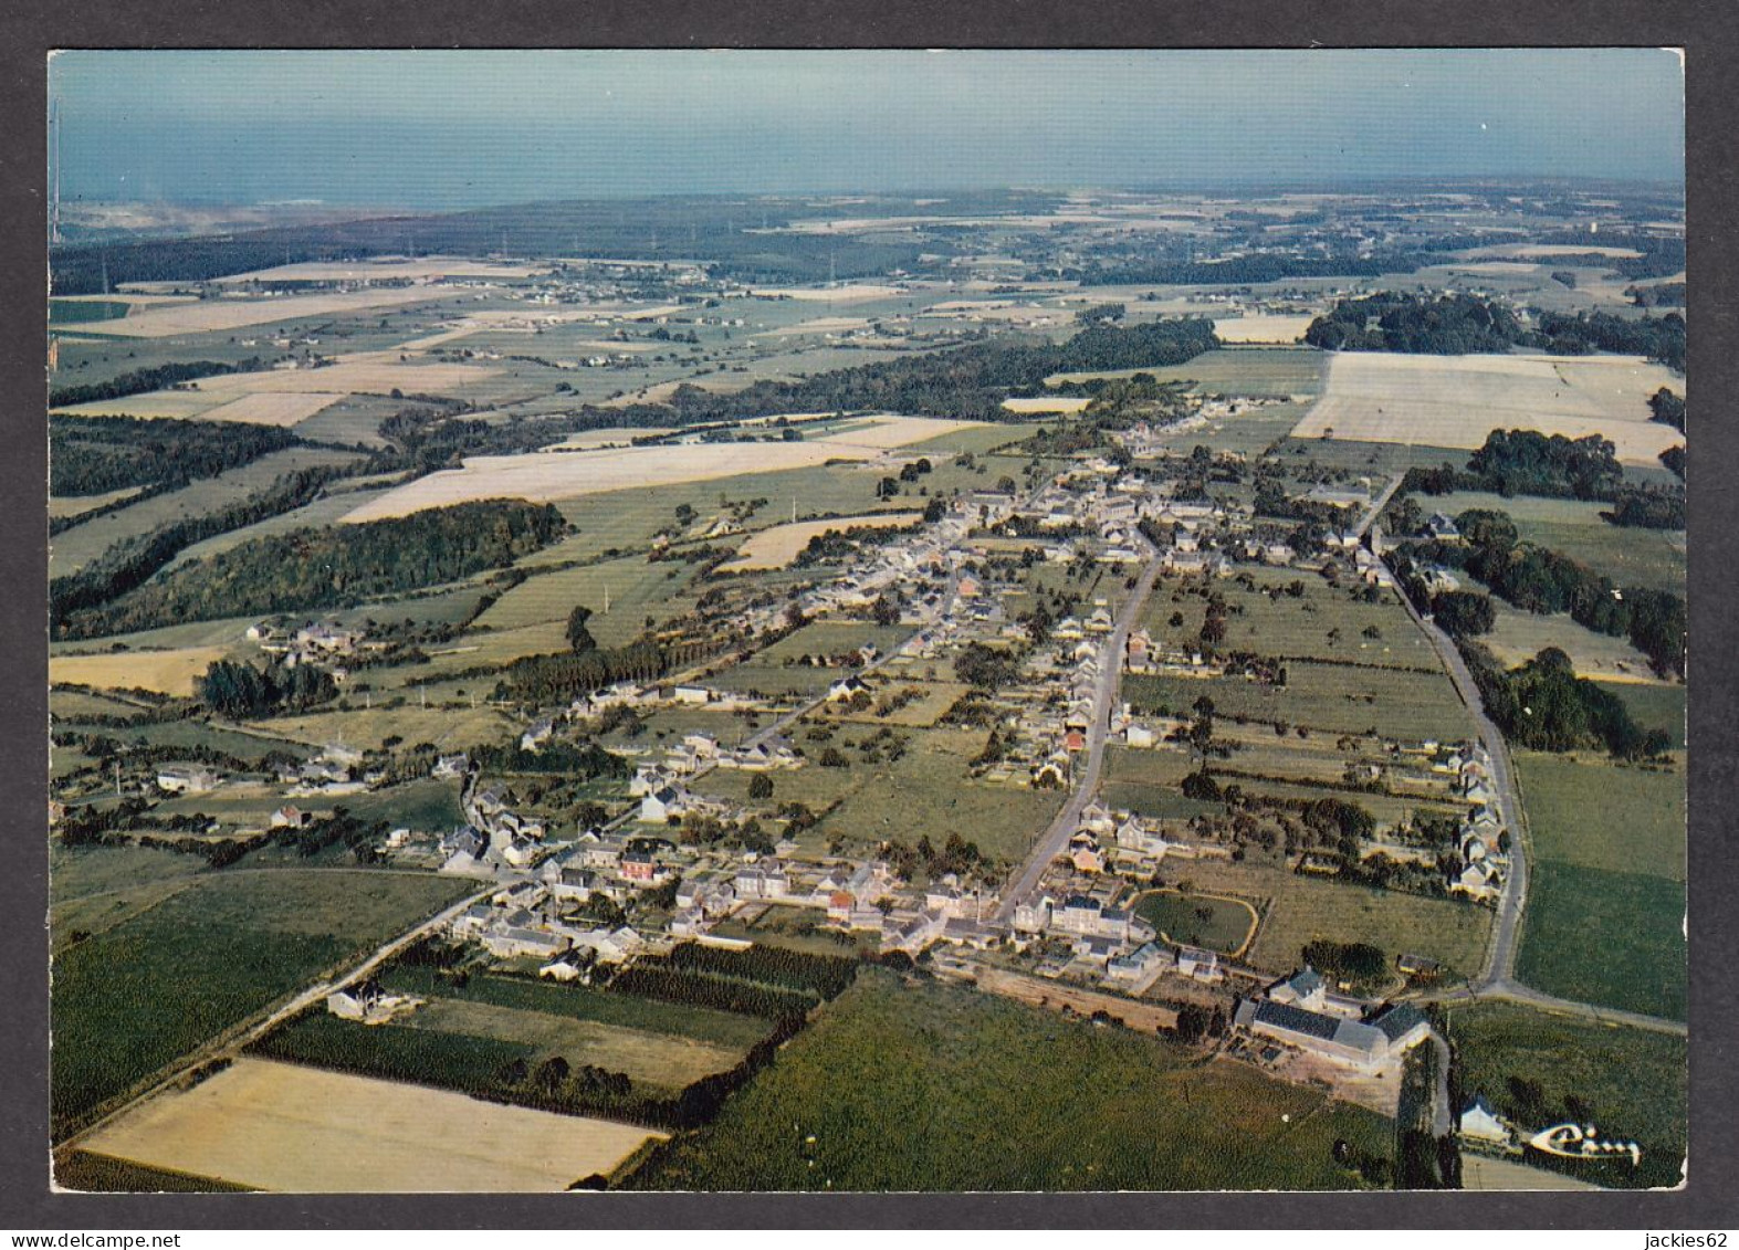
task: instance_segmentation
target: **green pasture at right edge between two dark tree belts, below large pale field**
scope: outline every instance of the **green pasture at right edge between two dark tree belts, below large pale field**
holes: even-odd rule
[[[1461,490],[1419,495],[1419,506],[1445,516],[1469,508],[1508,513],[1523,541],[1560,551],[1619,586],[1685,591],[1685,532],[1610,525],[1600,520],[1610,504]]]

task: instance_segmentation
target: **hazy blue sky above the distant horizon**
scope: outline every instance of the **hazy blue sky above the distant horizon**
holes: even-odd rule
[[[63,195],[1683,176],[1671,52],[64,52]]]

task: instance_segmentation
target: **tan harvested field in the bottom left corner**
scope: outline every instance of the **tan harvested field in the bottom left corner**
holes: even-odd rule
[[[656,1134],[318,1067],[238,1059],[83,1147],[278,1193],[562,1193]]]

